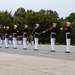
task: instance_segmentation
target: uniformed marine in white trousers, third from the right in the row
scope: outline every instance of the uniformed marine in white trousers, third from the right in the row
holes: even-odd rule
[[[35,41],[35,49],[34,50],[38,50],[38,41],[39,41],[39,35],[40,33],[40,28],[39,28],[39,24],[36,24],[36,27],[33,31],[33,33],[31,34],[32,36],[34,36],[34,41]]]

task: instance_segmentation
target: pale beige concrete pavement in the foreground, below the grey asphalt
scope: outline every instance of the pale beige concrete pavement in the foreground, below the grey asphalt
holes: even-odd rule
[[[75,61],[0,53],[0,75],[75,75]]]

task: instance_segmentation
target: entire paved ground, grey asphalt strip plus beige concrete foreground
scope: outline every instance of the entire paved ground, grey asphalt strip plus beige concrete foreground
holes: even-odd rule
[[[75,75],[75,46],[71,53],[65,53],[65,45],[56,45],[56,52],[50,52],[50,45],[34,46],[28,44],[27,50],[23,45],[9,49],[2,45],[0,48],[0,75]]]

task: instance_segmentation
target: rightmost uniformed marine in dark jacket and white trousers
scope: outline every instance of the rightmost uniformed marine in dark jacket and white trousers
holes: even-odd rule
[[[66,44],[67,44],[67,50],[65,51],[65,53],[70,53],[70,43],[71,43],[71,26],[70,26],[70,22],[67,22],[66,27],[61,30],[63,30],[66,34]]]

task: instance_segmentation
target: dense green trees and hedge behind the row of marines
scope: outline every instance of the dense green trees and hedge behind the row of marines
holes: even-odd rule
[[[70,21],[72,26],[72,44],[75,44],[75,13],[71,13],[65,19],[59,18],[56,11],[41,9],[38,12],[33,10],[25,10],[24,8],[18,8],[14,15],[12,12],[0,11],[0,25],[9,26],[12,32],[13,25],[18,25],[18,29],[21,33],[25,24],[29,26],[29,35],[34,30],[35,24],[40,24],[41,32],[52,26],[53,22],[57,23],[57,38],[56,43],[65,44],[65,33],[60,30],[61,27],[66,26],[66,22]],[[50,43],[50,32],[42,34],[40,36],[40,43]]]

